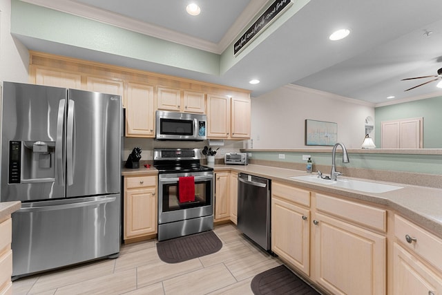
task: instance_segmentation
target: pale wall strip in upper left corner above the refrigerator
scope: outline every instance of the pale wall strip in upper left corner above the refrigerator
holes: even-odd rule
[[[0,82],[28,83],[28,49],[10,35],[11,1],[0,0]]]

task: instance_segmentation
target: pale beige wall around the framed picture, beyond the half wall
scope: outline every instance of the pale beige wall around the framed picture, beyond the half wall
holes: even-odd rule
[[[347,149],[359,149],[367,116],[374,118],[374,105],[289,84],[251,98],[253,149],[307,148],[306,119],[338,123],[338,142]],[[374,134],[372,131],[370,137]]]

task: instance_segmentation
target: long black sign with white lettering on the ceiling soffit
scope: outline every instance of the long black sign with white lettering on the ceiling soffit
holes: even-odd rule
[[[238,51],[246,46],[246,44],[256,37],[261,30],[263,30],[277,15],[279,15],[289,4],[291,4],[292,0],[276,0],[274,1],[267,10],[250,26],[250,28],[244,32],[244,35],[235,42],[233,46],[233,55],[236,55]]]

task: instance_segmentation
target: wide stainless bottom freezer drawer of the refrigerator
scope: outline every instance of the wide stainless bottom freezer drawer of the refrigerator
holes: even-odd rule
[[[12,213],[12,276],[119,252],[120,195],[27,202]]]

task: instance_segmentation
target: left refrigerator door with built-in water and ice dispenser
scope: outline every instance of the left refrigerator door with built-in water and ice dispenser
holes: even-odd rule
[[[65,88],[3,82],[1,202],[64,198],[65,100]]]

